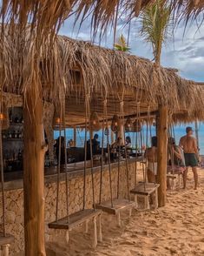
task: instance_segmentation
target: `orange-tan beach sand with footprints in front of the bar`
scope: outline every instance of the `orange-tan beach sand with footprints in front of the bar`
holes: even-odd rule
[[[194,179],[189,171],[188,189],[168,192],[168,204],[151,211],[133,211],[128,219],[122,214],[122,227],[114,216],[102,215],[103,241],[95,250],[82,227],[70,232],[69,245],[64,234],[47,243],[47,255],[109,255],[167,256],[204,255],[204,170],[199,171],[200,186],[194,191]]]

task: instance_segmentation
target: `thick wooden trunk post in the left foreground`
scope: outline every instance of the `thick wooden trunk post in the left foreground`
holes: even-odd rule
[[[26,101],[25,101],[26,99]],[[24,237],[25,255],[46,255],[44,246],[43,101],[32,86],[23,103]]]

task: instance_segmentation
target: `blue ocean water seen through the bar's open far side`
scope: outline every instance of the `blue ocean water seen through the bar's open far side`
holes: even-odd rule
[[[179,144],[179,140],[182,136],[185,135],[185,128],[186,126],[191,126],[193,127],[194,131],[194,124],[188,124],[188,125],[176,125],[174,126],[174,132],[172,129],[172,134],[174,133],[174,138],[175,138],[175,142],[178,145]],[[98,134],[99,136],[99,141],[100,144],[102,145],[102,131],[96,131],[95,133]],[[95,134],[94,133],[94,134]],[[143,143],[142,145],[146,145],[146,141],[147,141],[147,127],[143,127]],[[155,127],[151,128],[151,135],[155,136]],[[198,145],[200,148],[200,154],[204,155],[204,123],[198,123],[198,135],[199,135],[199,140],[198,140]],[[63,136],[63,131],[62,131],[62,136]],[[135,133],[133,132],[127,132],[126,136],[129,136],[131,138],[131,142],[132,145],[135,147]],[[58,138],[59,137],[59,131],[55,131],[54,132],[54,138]],[[195,134],[194,134],[195,137]],[[74,131],[73,129],[66,129],[66,139],[67,141],[69,141],[69,139],[73,139],[74,138]],[[89,132],[88,132],[88,139],[89,139]],[[149,139],[150,139],[150,131],[148,129],[148,145],[149,145]],[[81,131],[80,129],[77,129],[76,131],[76,146],[78,147],[82,147],[84,145],[84,140],[85,140],[85,131]],[[110,140],[110,138],[109,138]],[[104,139],[104,145],[107,145],[107,140],[106,138]]]

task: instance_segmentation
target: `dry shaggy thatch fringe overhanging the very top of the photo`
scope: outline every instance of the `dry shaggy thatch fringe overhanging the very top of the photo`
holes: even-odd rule
[[[203,0],[171,0],[172,6],[187,19],[198,16],[204,8]],[[97,30],[101,25],[104,29],[107,24],[113,24],[115,10],[126,11],[129,19],[137,17],[140,10],[150,0],[2,0],[0,18],[3,24],[20,24],[22,30],[27,24],[31,24],[31,32],[36,38],[36,44],[42,42],[49,33],[56,32],[63,21],[70,14],[76,14],[76,20],[83,21],[89,14],[92,15],[92,27]],[[36,27],[36,31],[33,30]]]

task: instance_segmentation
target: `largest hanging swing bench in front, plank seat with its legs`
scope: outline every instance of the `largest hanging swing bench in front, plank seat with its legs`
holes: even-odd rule
[[[69,231],[74,229],[76,226],[80,224],[85,224],[85,232],[88,232],[89,229],[89,221],[92,220],[94,222],[94,239],[93,239],[93,247],[97,246],[97,241],[99,240],[102,242],[102,221],[101,221],[101,210],[94,210],[94,209],[85,209],[80,212],[75,212],[68,217],[63,219],[58,219],[52,223],[49,223],[49,228],[53,228],[56,230],[65,230],[66,235],[65,239],[69,242]],[[99,223],[99,236],[97,238],[97,225],[96,219],[98,218]],[[68,221],[69,219],[69,221]]]

